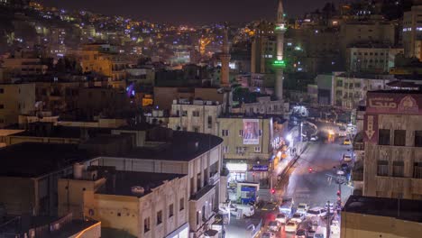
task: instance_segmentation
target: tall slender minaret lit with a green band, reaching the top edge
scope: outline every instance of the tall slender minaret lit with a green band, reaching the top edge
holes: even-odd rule
[[[276,68],[276,80],[275,80],[275,95],[278,100],[283,99],[283,67],[285,62],[283,60],[283,47],[284,47],[284,32],[286,32],[286,26],[284,25],[284,11],[282,0],[279,0],[279,8],[277,9],[277,22],[275,26],[275,33],[277,35],[277,59],[274,61],[274,67]]]

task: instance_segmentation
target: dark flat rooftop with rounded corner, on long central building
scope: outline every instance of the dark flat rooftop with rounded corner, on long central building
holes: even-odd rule
[[[123,157],[143,160],[180,160],[189,161],[210,151],[223,142],[223,139],[211,134],[173,132],[170,142],[156,147],[133,148]]]

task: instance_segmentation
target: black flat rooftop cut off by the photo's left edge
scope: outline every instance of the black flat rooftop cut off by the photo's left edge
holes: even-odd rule
[[[0,149],[0,176],[37,178],[88,159],[76,144],[23,142]]]

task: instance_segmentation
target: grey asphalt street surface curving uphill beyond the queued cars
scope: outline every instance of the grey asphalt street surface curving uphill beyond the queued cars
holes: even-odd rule
[[[318,142],[308,142],[307,150],[300,156],[296,164],[289,169],[288,174],[280,181],[276,197],[293,197],[296,206],[298,203],[307,203],[310,207],[325,206],[327,201],[331,203],[337,199],[336,192],[338,185],[333,180],[328,181],[326,174],[335,175],[334,167],[341,164],[343,153],[351,150],[350,145],[343,145],[342,139],[328,143],[324,139]],[[312,168],[312,172],[309,172]],[[342,186],[342,200],[352,194],[353,189]],[[277,210],[272,212],[263,212],[261,217],[265,219],[265,224],[275,219]],[[307,226],[307,223],[301,226]],[[281,229],[278,237],[294,237],[293,233],[285,233]]]

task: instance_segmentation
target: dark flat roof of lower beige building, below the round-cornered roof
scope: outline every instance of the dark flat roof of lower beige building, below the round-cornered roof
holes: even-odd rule
[[[142,197],[151,193],[151,189],[158,188],[164,184],[164,181],[170,181],[174,178],[183,178],[183,174],[165,174],[150,172],[133,171],[115,171],[106,177],[105,185],[96,191],[97,194],[118,195]],[[132,188],[140,186],[145,189],[142,196],[133,194]]]

